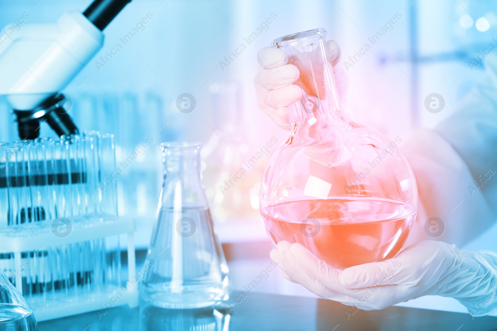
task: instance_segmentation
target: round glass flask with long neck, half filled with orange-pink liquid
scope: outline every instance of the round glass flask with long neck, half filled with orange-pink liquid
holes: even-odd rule
[[[273,40],[303,97],[288,140],[266,167],[260,210],[276,244],[300,243],[336,268],[395,256],[417,211],[417,187],[402,141],[348,119],[326,60],[324,29]]]

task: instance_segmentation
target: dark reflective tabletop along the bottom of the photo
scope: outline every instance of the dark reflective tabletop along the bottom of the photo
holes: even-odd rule
[[[238,330],[497,330],[497,317],[406,307],[363,311],[340,303],[274,294],[234,292],[231,308],[166,310],[110,308],[38,323],[40,331]],[[354,310],[355,309],[355,310]]]

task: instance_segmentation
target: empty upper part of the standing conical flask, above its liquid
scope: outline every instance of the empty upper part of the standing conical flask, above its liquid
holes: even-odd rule
[[[200,146],[185,142],[161,145],[164,185],[161,204],[166,208],[207,206],[202,182]]]

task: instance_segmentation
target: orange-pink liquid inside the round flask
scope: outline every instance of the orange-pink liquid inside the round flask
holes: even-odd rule
[[[408,237],[414,206],[354,197],[280,202],[262,211],[274,244],[299,243],[338,269],[394,257]]]

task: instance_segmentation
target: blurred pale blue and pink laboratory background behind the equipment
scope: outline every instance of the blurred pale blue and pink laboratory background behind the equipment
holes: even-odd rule
[[[4,1],[0,26],[23,13],[28,23],[54,22],[87,5],[84,0]],[[133,0],[104,30],[103,48],[63,92],[80,131],[114,133],[123,171],[117,180],[118,213],[136,219],[136,247],[143,252],[163,182],[159,144],[203,144],[204,184],[215,226],[234,287],[244,289],[270,263],[272,244],[260,218],[258,189],[271,154],[288,136],[257,107],[252,83],[257,52],[273,38],[324,27],[342,50],[349,114],[407,141],[418,128],[448,117],[480,79],[485,60],[479,64],[473,57],[490,43],[497,47],[496,13],[497,3],[484,0]],[[144,17],[148,23],[123,42]],[[108,56],[117,44],[117,54]],[[362,51],[365,44],[370,47]],[[188,111],[178,106],[184,93],[193,96]],[[424,106],[431,93],[445,102],[436,114]],[[42,136],[55,135],[47,124],[40,130]],[[124,167],[149,137],[153,143],[145,153]],[[264,146],[273,137],[277,143],[267,152]],[[2,100],[0,141],[17,138]],[[236,175],[254,156],[248,172]],[[495,246],[481,239],[466,248],[497,249],[487,244]],[[313,296],[284,281],[279,269],[256,290]],[[465,311],[457,301],[443,300],[433,300],[430,308]]]

